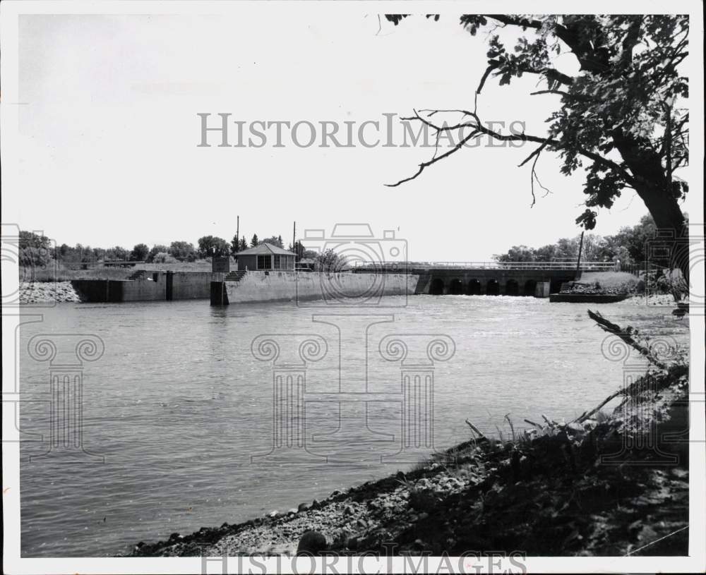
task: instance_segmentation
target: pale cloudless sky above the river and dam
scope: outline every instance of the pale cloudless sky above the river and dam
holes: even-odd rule
[[[530,167],[517,167],[529,146],[484,141],[396,188],[385,183],[412,175],[433,150],[297,147],[288,133],[274,147],[272,129],[259,148],[217,147],[217,134],[210,147],[198,146],[197,114],[211,114],[213,125],[217,114],[231,114],[246,131],[257,120],[349,121],[357,130],[397,114],[399,143],[399,116],[472,108],[487,37],[472,37],[457,18],[395,27],[373,13],[267,8],[247,17],[32,15],[20,16],[18,37],[19,224],[58,244],[230,240],[239,216],[248,240],[281,235],[289,243],[294,221],[297,237],[367,223],[376,237],[394,230],[410,260],[483,261],[580,233],[584,174],[562,176],[560,160],[542,154],[537,174],[551,193],[537,188],[530,209]],[[570,54],[555,64],[575,71]],[[544,134],[557,100],[529,95],[539,89],[536,77],[510,87],[491,78],[481,119],[521,121],[527,133]],[[645,213],[626,190],[599,212],[594,233],[614,234]]]

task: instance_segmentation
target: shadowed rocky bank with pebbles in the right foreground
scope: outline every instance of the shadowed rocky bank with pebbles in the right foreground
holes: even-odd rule
[[[650,401],[650,418],[662,437],[686,425],[688,368],[672,365],[651,377],[654,387],[631,387],[622,399]],[[341,555],[498,549],[527,555],[684,555],[688,451],[680,444],[660,446],[678,456],[672,466],[660,466],[650,450],[626,454],[640,465],[602,463],[602,455],[621,452],[635,425],[625,413],[593,410],[568,424],[542,416],[542,425],[527,422],[532,429],[517,434],[508,420],[512,435],[505,441],[489,439],[469,423],[472,440],[408,473],[335,491],[287,512],[140,542],[126,555],[294,555],[311,531],[323,535],[328,552]]]

